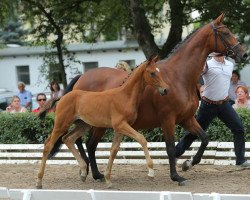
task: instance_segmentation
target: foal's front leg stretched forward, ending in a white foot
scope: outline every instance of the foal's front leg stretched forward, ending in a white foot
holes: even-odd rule
[[[136,130],[134,130],[127,122],[121,122],[117,125],[114,125],[113,128],[115,132],[133,138],[141,144],[147,161],[148,176],[154,177],[153,161],[149,155],[147,140],[145,139],[145,137],[142,134],[138,133]]]

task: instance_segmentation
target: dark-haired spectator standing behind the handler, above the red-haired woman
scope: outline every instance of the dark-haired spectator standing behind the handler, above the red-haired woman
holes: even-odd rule
[[[235,90],[239,85],[246,86],[246,84],[240,80],[239,72],[237,70],[233,70],[229,87],[229,102],[231,105],[235,103],[236,100]]]

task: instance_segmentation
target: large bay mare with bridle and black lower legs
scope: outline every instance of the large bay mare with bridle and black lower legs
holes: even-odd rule
[[[160,98],[153,88],[146,88],[139,105],[138,118],[132,125],[136,130],[162,128],[169,157],[170,177],[179,185],[185,185],[186,179],[179,176],[176,171],[175,125],[181,125],[201,139],[201,146],[193,157],[192,165],[200,162],[208,144],[206,133],[194,117],[198,108],[196,85],[199,82],[207,56],[214,51],[221,52],[232,57],[236,62],[245,60],[247,57],[237,39],[222,23],[223,18],[224,14],[196,30],[168,58],[157,62],[163,79],[169,83],[171,90],[168,95]],[[126,77],[127,73],[121,70],[97,68],[73,79],[68,90],[73,88],[73,90],[103,91],[118,87]],[[94,179],[102,179],[103,175],[99,172],[96,164],[95,150],[105,133],[105,128],[93,128],[91,131],[92,135],[86,146],[92,175]],[[88,162],[81,140],[77,140],[76,143],[82,157],[85,157],[86,162]],[[56,151],[58,149],[55,149]]]

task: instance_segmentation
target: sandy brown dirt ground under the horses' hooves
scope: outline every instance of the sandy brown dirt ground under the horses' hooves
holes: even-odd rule
[[[0,187],[9,189],[34,189],[38,164],[0,165]],[[105,165],[100,166],[103,172]],[[75,190],[131,190],[131,191],[180,191],[195,193],[235,193],[250,194],[250,169],[239,170],[235,166],[197,165],[188,172],[179,174],[189,179],[186,186],[178,186],[169,177],[169,165],[155,165],[155,178],[147,177],[145,165],[113,166],[113,188],[105,182],[95,181],[91,172],[85,182],[78,176],[76,165],[47,165],[43,179],[43,189]]]

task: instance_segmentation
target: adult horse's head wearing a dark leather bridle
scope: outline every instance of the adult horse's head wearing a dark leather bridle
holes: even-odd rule
[[[221,14],[216,20],[211,22],[210,44],[213,51],[223,53],[235,60],[235,62],[245,61],[247,58],[246,50],[241,46],[231,31],[222,23],[224,14]]]

